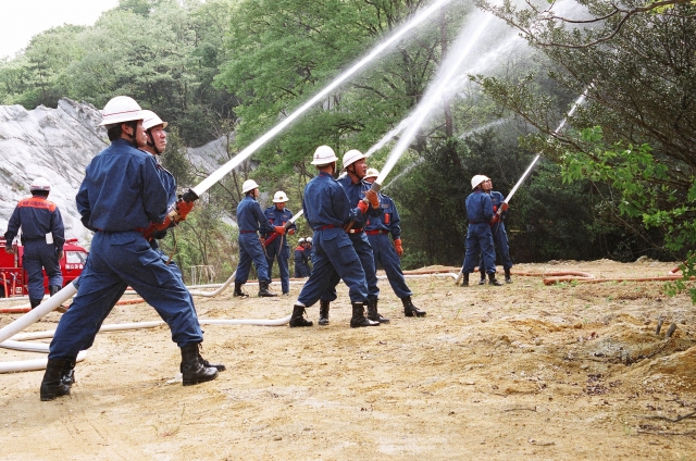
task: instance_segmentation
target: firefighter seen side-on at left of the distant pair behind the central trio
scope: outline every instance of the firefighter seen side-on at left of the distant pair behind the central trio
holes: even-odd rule
[[[235,277],[234,296],[248,297],[241,290],[241,286],[249,278],[251,262],[257,267],[259,276],[259,296],[274,297],[276,294],[269,290],[271,284],[271,273],[265,259],[263,245],[259,239],[259,230],[264,234],[276,232],[281,236],[285,235],[285,227],[273,226],[263,214],[261,205],[257,201],[259,197],[259,185],[253,179],[247,179],[241,185],[241,192],[246,197],[237,205],[237,225],[239,226],[239,263],[237,264],[237,276]]]

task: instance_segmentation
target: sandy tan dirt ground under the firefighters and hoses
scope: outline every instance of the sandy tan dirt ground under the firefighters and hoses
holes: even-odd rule
[[[206,326],[203,357],[227,371],[197,386],[181,385],[169,328],[101,333],[70,397],[39,401],[42,371],[0,375],[0,458],[696,459],[688,296],[669,298],[663,282],[545,286],[514,275],[652,277],[675,265],[520,264],[502,287],[410,278],[423,319],[405,317],[381,281],[380,311],[391,322],[370,328],[348,326],[341,284],[325,327]],[[201,319],[278,319],[300,287],[245,300],[228,289],[196,304]],[[318,306],[308,313],[315,322]],[[0,314],[0,326],[18,316]],[[105,324],[157,319],[147,304],[120,306]],[[0,361],[35,358],[0,349]]]

